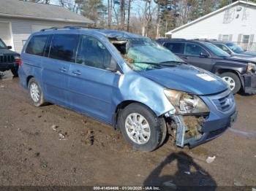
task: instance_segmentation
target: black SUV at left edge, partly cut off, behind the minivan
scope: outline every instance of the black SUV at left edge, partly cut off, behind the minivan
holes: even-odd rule
[[[0,71],[11,70],[15,77],[18,77],[18,62],[20,61],[20,55],[17,52],[13,52],[11,46],[4,44],[0,39]]]

